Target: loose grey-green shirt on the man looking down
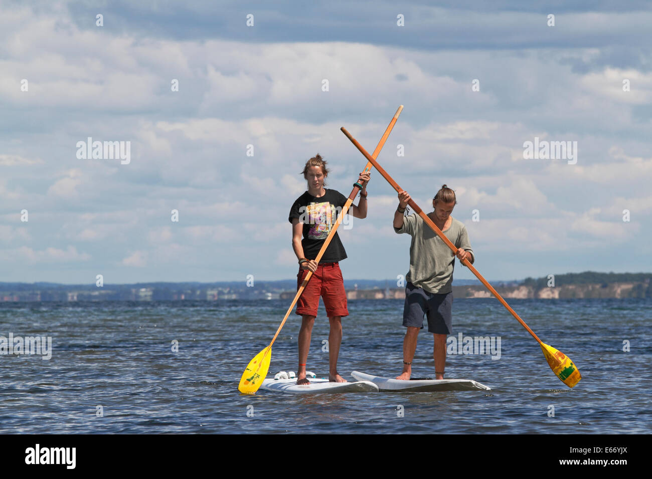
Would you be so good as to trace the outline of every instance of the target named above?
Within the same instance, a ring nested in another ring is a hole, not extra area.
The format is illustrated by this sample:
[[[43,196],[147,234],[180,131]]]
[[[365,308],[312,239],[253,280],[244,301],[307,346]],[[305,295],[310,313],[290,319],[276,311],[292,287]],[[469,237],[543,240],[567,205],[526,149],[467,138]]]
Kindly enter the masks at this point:
[[[396,233],[408,233],[412,237],[409,247],[409,272],[406,281],[421,287],[428,293],[445,294],[452,291],[452,271],[455,255],[451,248],[430,229],[421,216],[410,214],[403,218],[403,225],[394,228]],[[456,248],[462,248],[471,254],[471,263],[475,254],[471,249],[469,235],[462,222],[452,218],[449,229],[442,231]]]

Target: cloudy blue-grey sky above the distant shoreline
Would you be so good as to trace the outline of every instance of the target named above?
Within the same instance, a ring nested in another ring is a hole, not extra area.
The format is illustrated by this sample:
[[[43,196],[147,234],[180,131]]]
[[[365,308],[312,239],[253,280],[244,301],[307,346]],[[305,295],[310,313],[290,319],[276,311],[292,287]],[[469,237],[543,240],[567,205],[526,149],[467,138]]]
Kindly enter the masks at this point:
[[[426,211],[456,190],[486,278],[650,271],[649,3],[491,4],[0,1],[0,282],[293,278],[304,162],[348,196],[340,126],[371,152],[400,104],[378,160]],[[576,157],[524,158],[535,138]],[[398,200],[368,191],[344,278],[396,278]]]

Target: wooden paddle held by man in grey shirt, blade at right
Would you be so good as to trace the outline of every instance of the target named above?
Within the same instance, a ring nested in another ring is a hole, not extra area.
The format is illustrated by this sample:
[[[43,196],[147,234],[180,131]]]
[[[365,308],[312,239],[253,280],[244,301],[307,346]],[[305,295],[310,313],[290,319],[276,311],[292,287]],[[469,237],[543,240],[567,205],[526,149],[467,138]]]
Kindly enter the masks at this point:
[[[351,136],[351,134],[348,131],[346,131],[346,128],[344,128],[344,126],[342,126],[341,130],[342,130],[342,133],[344,133],[346,135],[346,137],[351,140],[351,143],[353,143],[353,145],[355,145],[355,147],[357,147],[357,149],[359,149],[359,151],[365,156],[365,158],[369,162],[371,162],[374,165],[374,167],[376,167],[376,169],[378,169],[378,173],[383,175],[383,178],[385,178],[387,180],[387,182],[389,182],[389,184],[391,184],[393,186],[394,190],[396,190],[397,193],[401,192],[402,188],[400,186],[398,186],[398,183],[396,183],[396,181],[394,181],[392,179],[392,177],[389,176],[387,171],[385,171],[383,169],[383,167],[381,167],[378,164],[378,162],[376,162],[376,158],[372,158],[372,156],[370,156],[369,153],[366,152],[366,150],[362,147],[362,145],[360,145],[360,143],[358,143],[356,141],[356,139],[353,138],[353,136]],[[428,226],[430,226],[430,228],[432,228],[432,231],[437,233],[437,236],[439,236],[439,238],[441,238],[443,240],[443,242],[445,242],[447,244],[447,246],[449,248],[451,248],[453,253],[457,252],[457,248],[455,248],[455,245],[452,244],[451,240],[449,240],[446,237],[446,235],[444,235],[441,232],[441,229],[439,229],[437,227],[437,225],[434,224],[432,222],[432,220],[430,220],[430,218],[428,218],[428,215],[426,213],[424,213],[421,210],[421,208],[419,208],[417,203],[415,203],[412,199],[410,199],[408,201],[408,205],[410,205],[410,207],[415,211],[415,213],[417,213],[419,216],[421,216],[421,218],[423,218],[424,222],[426,222],[426,224],[428,224]],[[487,282],[487,280],[482,278],[482,275],[478,272],[477,269],[475,269],[473,267],[473,265],[471,265],[471,263],[469,262],[468,259],[465,259],[463,264],[468,269],[470,269],[471,272],[473,272],[473,274],[475,274],[475,276],[477,276],[477,278],[482,282],[482,284],[484,284],[486,289],[491,291],[492,295],[494,295],[496,297],[496,299],[499,300],[503,304],[503,306],[505,306],[505,308],[507,308],[507,311],[512,313],[512,316],[514,316],[518,320],[518,322],[521,323],[521,325],[524,328],[526,328],[527,332],[529,332],[529,334],[531,334],[533,336],[533,338],[535,338],[535,340],[537,340],[539,342],[539,345],[541,345],[541,349],[543,351],[543,354],[544,354],[544,356],[546,356],[546,360],[548,361],[548,366],[550,366],[550,368],[552,369],[552,372],[554,372],[557,375],[557,377],[559,377],[559,379],[561,379],[561,381],[563,381],[563,383],[565,385],[569,386],[569,388],[572,388],[572,386],[576,385],[578,383],[578,381],[580,381],[580,379],[582,379],[582,376],[580,375],[580,371],[578,371],[576,366],[571,361],[571,358],[569,358],[569,356],[565,355],[561,351],[557,351],[557,349],[555,349],[554,347],[549,346],[546,343],[544,343],[543,341],[541,341],[539,339],[539,337],[536,334],[534,334],[534,332],[526,325],[525,321],[520,319],[518,314],[516,314],[516,312],[514,310],[512,310],[511,306],[509,306],[509,304],[507,304],[507,301],[505,301],[503,299],[503,297],[501,297],[501,295],[499,295],[497,293],[496,289],[494,289],[492,287],[492,285],[490,285]]]

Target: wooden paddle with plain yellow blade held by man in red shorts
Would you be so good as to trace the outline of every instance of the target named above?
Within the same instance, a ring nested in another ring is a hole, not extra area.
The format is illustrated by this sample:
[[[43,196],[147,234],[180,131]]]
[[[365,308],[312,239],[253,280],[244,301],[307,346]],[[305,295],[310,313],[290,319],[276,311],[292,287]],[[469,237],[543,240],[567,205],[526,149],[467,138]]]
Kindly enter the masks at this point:
[[[396,110],[396,113],[394,113],[394,117],[392,121],[389,123],[389,126],[387,126],[387,129],[383,134],[383,138],[380,139],[378,146],[374,150],[374,155],[373,155],[374,160],[376,159],[379,152],[383,148],[383,145],[385,145],[385,141],[387,141],[387,137],[389,137],[392,128],[394,128],[394,124],[396,123],[396,120],[398,120],[398,115],[401,114],[401,111],[403,111],[403,105],[399,106],[398,109]],[[367,162],[366,166],[364,166],[363,171],[371,171],[371,168],[372,168],[372,163]],[[324,240],[324,243],[323,245],[321,245],[321,249],[319,250],[317,257],[314,259],[316,263],[319,263],[319,260],[326,252],[326,248],[328,248],[328,245],[331,243],[331,240],[333,239],[335,232],[337,231],[338,227],[342,223],[342,219],[344,218],[344,215],[346,214],[346,212],[348,212],[349,207],[351,207],[351,203],[353,203],[353,200],[357,196],[358,192],[362,190],[362,188],[363,188],[362,184],[355,183],[353,185],[353,190],[351,190],[351,194],[349,195],[349,198],[346,200],[346,203],[344,203],[344,207],[342,207],[342,211],[338,215],[337,220],[335,221],[333,227],[331,228],[331,232],[329,233],[328,237]],[[276,330],[276,334],[274,334],[274,338],[272,338],[271,343],[269,343],[269,346],[267,346],[265,349],[260,351],[260,353],[258,353],[247,365],[240,379],[240,384],[238,385],[238,390],[240,392],[243,392],[244,394],[254,394],[265,380],[265,377],[267,376],[267,371],[269,371],[269,361],[271,360],[271,356],[272,356],[271,354],[272,345],[274,344],[274,341],[276,341],[276,337],[278,336],[278,333],[280,333],[281,328],[283,327],[283,325],[288,319],[289,313],[291,313],[292,308],[294,308],[294,305],[297,304],[297,300],[299,300],[301,293],[303,293],[303,290],[305,289],[306,284],[308,284],[308,280],[310,280],[311,277],[312,277],[312,271],[308,271],[308,274],[306,274],[306,277],[301,283],[301,286],[299,287],[297,294],[292,300],[292,304],[290,304],[288,308],[288,312],[283,318],[281,325]]]

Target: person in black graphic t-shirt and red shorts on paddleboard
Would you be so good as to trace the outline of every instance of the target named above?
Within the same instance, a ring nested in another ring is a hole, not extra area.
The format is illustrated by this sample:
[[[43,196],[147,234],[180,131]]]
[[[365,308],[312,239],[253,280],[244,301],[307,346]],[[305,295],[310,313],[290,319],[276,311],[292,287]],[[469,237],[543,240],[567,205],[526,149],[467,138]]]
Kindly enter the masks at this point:
[[[308,281],[303,294],[297,301],[296,313],[301,315],[301,330],[299,330],[299,368],[297,384],[308,384],[306,379],[306,362],[310,349],[312,326],[317,317],[319,297],[324,302],[326,315],[331,323],[329,333],[329,379],[337,383],[346,380],[337,372],[337,356],[342,343],[342,316],[348,316],[344,280],[338,265],[346,258],[346,251],[337,233],[334,234],[325,253],[314,261],[321,246],[329,236],[331,227],[337,220],[337,215],[346,203],[346,196],[336,190],[324,188],[324,180],[328,176],[326,162],[319,156],[314,156],[306,162],[303,177],[308,181],[308,191],[297,198],[289,211],[288,220],[292,224],[292,248],[299,259],[299,274],[297,274],[297,290],[303,283],[308,271],[312,277]],[[360,173],[359,184],[363,184],[358,205],[351,205],[349,214],[355,218],[366,218],[366,182],[369,173]],[[303,235],[303,239],[301,239]]]

